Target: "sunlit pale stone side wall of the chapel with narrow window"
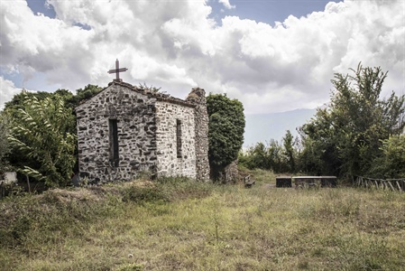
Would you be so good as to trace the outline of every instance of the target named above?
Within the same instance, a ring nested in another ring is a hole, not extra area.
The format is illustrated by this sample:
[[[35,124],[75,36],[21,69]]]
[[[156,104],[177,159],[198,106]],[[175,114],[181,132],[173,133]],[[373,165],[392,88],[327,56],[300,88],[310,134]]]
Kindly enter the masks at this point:
[[[196,178],[194,107],[168,101],[155,107],[158,176]]]

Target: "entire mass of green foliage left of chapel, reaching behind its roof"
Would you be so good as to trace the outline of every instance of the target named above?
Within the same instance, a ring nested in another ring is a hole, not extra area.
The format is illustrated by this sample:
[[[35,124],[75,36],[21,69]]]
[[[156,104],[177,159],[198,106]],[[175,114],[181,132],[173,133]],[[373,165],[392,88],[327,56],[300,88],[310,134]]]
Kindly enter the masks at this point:
[[[2,164],[9,162],[21,173],[47,182],[48,185],[66,184],[72,173],[70,165],[73,163],[78,166],[76,117],[73,109],[83,99],[91,98],[101,90],[89,84],[84,89],[77,89],[76,95],[68,89],[57,89],[53,93],[22,91],[14,95],[5,104],[3,112],[3,116],[13,121],[15,128],[10,137],[13,147],[10,148],[7,161]],[[5,137],[2,134],[4,124],[5,119],[2,118],[0,140]],[[54,143],[57,145],[52,146]],[[0,146],[0,158],[5,156],[1,154],[6,148],[6,144]],[[53,175],[45,177],[49,173]]]

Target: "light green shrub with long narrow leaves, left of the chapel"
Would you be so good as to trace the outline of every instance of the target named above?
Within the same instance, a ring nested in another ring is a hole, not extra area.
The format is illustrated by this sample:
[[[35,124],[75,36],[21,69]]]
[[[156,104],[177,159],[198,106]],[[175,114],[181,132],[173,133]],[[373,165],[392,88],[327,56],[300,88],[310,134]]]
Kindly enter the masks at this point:
[[[17,170],[49,186],[63,186],[69,182],[76,162],[75,118],[71,108],[55,95],[38,99],[21,94],[19,108],[8,109],[11,131],[8,141],[12,146]]]

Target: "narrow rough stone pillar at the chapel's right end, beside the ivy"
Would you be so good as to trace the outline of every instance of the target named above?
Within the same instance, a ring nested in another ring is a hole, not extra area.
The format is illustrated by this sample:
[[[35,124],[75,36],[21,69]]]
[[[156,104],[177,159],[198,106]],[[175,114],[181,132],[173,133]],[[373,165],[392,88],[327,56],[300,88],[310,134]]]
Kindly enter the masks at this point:
[[[194,88],[189,93],[187,101],[196,105],[196,163],[197,175],[199,181],[209,180],[209,161],[208,161],[208,112],[206,91],[204,89]]]

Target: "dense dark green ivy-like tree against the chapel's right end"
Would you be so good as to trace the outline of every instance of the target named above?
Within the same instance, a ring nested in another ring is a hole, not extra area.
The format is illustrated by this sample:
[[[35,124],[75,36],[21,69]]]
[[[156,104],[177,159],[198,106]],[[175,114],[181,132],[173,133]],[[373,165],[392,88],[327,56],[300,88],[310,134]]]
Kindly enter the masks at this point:
[[[208,158],[211,175],[217,179],[225,167],[237,159],[244,144],[244,106],[226,95],[209,94],[207,111]]]

